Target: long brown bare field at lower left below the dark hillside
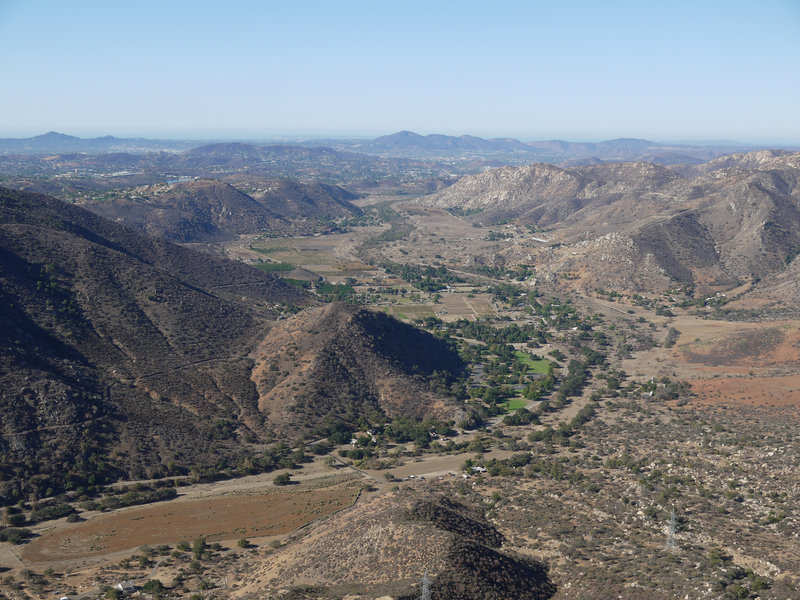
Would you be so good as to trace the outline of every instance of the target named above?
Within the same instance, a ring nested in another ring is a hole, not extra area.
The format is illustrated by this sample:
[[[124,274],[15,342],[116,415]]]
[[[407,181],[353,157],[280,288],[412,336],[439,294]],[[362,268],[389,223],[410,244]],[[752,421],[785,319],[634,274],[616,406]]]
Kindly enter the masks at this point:
[[[348,482],[320,489],[173,500],[123,510],[44,532],[25,546],[21,558],[40,563],[174,544],[198,536],[218,541],[280,535],[352,505],[359,489],[360,484]]]

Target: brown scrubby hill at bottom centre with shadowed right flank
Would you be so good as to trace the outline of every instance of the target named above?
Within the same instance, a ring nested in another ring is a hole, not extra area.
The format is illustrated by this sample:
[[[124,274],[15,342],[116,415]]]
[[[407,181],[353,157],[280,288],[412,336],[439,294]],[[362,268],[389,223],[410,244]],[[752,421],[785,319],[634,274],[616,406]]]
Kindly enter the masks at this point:
[[[236,598],[540,600],[555,586],[540,562],[502,550],[480,509],[443,496],[383,495],[260,553]]]

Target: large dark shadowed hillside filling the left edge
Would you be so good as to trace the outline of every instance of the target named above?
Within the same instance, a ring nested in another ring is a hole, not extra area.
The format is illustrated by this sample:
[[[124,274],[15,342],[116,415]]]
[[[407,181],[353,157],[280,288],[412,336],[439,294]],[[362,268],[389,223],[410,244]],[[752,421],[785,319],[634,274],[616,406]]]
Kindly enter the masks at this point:
[[[4,499],[213,464],[217,442],[231,452],[219,419],[263,433],[247,354],[282,305],[309,303],[246,265],[7,190],[0,282]]]

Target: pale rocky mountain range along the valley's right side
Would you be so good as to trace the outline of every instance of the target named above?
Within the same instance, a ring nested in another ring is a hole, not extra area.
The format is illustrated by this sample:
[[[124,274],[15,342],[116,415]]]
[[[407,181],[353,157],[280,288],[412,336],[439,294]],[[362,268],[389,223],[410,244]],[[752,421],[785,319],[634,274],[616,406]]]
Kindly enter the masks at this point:
[[[421,203],[473,213],[478,224],[547,229],[570,252],[540,254],[542,271],[569,271],[587,286],[724,289],[784,268],[800,248],[800,154],[760,151],[691,170],[698,174],[648,163],[505,167]],[[524,246],[505,256],[535,260]]]

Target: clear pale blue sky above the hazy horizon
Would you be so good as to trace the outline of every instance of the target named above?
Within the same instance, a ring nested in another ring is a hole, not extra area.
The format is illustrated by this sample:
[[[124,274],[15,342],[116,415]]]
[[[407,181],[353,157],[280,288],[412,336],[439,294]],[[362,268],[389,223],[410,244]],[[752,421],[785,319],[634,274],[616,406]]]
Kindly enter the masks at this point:
[[[0,0],[0,137],[800,144],[800,0]]]

